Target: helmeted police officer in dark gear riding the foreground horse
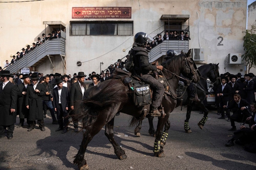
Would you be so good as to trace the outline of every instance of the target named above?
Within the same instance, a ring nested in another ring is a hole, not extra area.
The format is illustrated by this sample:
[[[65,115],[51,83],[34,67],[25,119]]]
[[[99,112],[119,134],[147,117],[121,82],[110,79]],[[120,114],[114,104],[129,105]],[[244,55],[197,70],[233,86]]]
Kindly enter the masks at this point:
[[[158,107],[161,105],[164,86],[149,73],[156,71],[157,69],[163,70],[163,66],[158,66],[158,63],[156,62],[152,64],[149,62],[148,52],[144,48],[146,47],[147,40],[148,36],[144,32],[139,32],[134,36],[134,68],[132,74],[138,76],[142,82],[149,84],[153,90],[152,104],[149,114],[151,114],[151,116],[161,116],[163,113],[158,110]]]

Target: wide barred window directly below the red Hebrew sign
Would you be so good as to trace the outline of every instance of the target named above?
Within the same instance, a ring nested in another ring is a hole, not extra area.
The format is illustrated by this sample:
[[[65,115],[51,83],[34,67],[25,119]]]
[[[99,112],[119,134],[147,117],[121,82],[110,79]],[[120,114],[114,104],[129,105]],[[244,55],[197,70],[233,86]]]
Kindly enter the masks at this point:
[[[70,21],[70,35],[133,35],[133,21]]]

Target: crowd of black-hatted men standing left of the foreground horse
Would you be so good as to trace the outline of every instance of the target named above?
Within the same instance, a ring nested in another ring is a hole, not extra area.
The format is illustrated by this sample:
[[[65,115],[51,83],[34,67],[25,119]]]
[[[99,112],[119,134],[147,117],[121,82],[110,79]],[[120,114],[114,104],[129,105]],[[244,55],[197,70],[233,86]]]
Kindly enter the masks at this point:
[[[108,79],[92,72],[88,77],[92,80],[89,85],[96,86],[100,82]],[[52,124],[58,124],[55,131],[68,131],[69,115],[79,111],[80,101],[84,98],[86,85],[84,84],[84,72],[71,75],[61,75],[59,73],[43,75],[42,73],[30,74],[10,74],[8,70],[0,72],[0,138],[5,137],[7,128],[7,138],[13,138],[13,130],[16,123],[16,115],[19,115],[17,128],[28,128],[32,131],[37,124],[41,131],[45,131],[44,118],[49,109]],[[88,79],[87,79],[88,80]],[[25,119],[28,126],[24,126]],[[73,119],[74,132],[78,132],[78,119]]]

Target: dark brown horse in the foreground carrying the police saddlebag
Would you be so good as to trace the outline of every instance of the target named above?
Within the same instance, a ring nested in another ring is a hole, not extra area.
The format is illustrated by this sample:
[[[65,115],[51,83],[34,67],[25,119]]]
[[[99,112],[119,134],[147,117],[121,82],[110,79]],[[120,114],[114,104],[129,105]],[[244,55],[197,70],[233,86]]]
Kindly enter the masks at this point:
[[[175,94],[180,79],[180,73],[190,79],[186,80],[188,83],[199,81],[199,73],[196,71],[197,69],[193,59],[189,56],[190,52],[191,50],[189,50],[187,54],[182,52],[165,65],[162,72],[168,81],[169,93]],[[114,147],[115,154],[120,160],[126,159],[127,156],[124,150],[121,149],[120,145],[114,139],[114,117],[118,111],[140,117],[144,112],[143,107],[134,106],[132,99],[127,93],[127,86],[123,85],[121,80],[109,79],[97,86],[90,87],[85,93],[86,99],[84,99],[81,104],[82,111],[77,116],[79,119],[87,119],[86,122],[83,122],[87,130],[84,132],[80,149],[77,155],[74,156],[74,164],[77,164],[79,169],[89,168],[84,159],[86,148],[88,143],[100,132],[104,125],[105,135]],[[165,95],[162,99],[162,105],[166,116],[164,118],[158,118],[154,143],[154,155],[157,157],[165,156],[163,147],[168,136],[169,127],[165,127],[165,129],[168,129],[163,132],[163,126],[167,122],[170,112],[172,112],[176,106],[176,98]],[[150,106],[148,106],[147,111],[149,111],[149,107]],[[137,121],[132,123],[137,123]]]

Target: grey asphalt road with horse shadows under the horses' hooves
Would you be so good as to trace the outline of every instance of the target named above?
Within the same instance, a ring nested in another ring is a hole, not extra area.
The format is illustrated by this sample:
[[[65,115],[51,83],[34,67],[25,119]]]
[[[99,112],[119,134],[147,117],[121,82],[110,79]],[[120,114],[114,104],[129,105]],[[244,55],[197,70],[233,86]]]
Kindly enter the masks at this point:
[[[230,122],[217,119],[215,110],[208,114],[204,129],[197,123],[202,114],[192,111],[189,125],[191,134],[184,131],[186,110],[175,109],[170,115],[171,128],[164,148],[165,157],[154,157],[154,138],[149,136],[148,121],[144,120],[141,136],[136,137],[134,127],[129,128],[130,116],[121,113],[115,117],[115,139],[122,146],[127,159],[119,160],[104,135],[104,128],[93,138],[85,158],[90,169],[256,169],[256,154],[236,145],[225,147],[233,133]],[[55,132],[58,125],[51,124],[49,113],[45,118],[46,131],[15,128],[13,139],[0,139],[0,169],[78,169],[72,162],[82,141],[82,131],[66,134]],[[17,117],[17,123],[19,119]],[[157,118],[154,119],[156,127]],[[237,127],[240,123],[236,123]]]

